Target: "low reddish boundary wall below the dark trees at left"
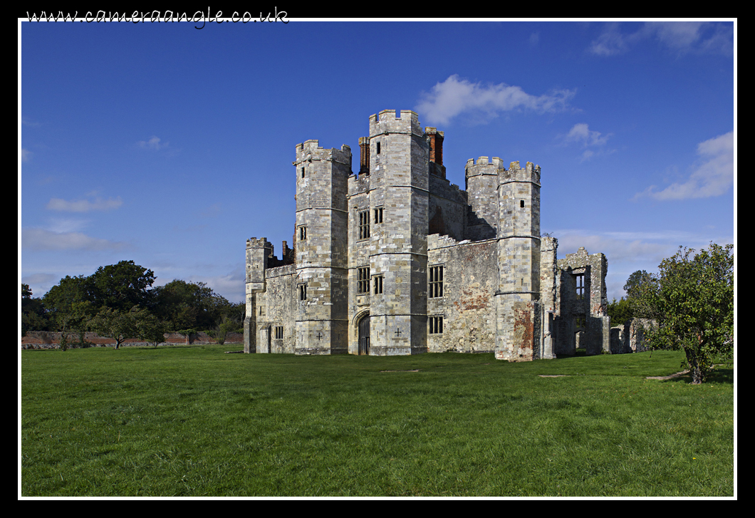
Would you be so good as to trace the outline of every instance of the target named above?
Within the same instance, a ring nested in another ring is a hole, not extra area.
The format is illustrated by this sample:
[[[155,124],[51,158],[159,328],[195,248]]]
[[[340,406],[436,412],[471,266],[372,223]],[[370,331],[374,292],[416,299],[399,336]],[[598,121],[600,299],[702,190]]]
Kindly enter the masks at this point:
[[[212,338],[207,333],[193,333],[190,336],[180,335],[179,333],[165,333],[165,341],[161,342],[163,345],[177,345],[177,344],[196,344],[196,345],[208,345],[217,344],[217,339]],[[115,347],[116,341],[112,338],[103,338],[97,333],[86,333],[84,340],[88,344],[86,347]],[[75,349],[79,347],[79,335],[75,333],[69,333],[68,335],[69,347]],[[244,335],[241,333],[228,333],[226,335],[225,343],[227,344],[241,344],[244,341]],[[121,347],[139,346],[147,347],[152,346],[145,341],[140,341],[138,338],[129,338],[127,341],[121,344]],[[21,338],[21,349],[59,349],[60,348],[60,333],[51,331],[29,331],[25,337]]]

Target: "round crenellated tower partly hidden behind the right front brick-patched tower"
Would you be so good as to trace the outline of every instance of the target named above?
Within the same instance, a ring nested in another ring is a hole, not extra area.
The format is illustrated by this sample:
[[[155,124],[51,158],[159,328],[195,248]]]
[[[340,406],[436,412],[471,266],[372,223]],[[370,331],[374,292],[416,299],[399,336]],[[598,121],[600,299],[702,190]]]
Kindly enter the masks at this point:
[[[478,241],[498,235],[498,171],[501,169],[504,164],[497,156],[489,162],[487,156],[480,156],[476,164],[473,159],[467,160],[464,168],[470,203],[467,239]]]

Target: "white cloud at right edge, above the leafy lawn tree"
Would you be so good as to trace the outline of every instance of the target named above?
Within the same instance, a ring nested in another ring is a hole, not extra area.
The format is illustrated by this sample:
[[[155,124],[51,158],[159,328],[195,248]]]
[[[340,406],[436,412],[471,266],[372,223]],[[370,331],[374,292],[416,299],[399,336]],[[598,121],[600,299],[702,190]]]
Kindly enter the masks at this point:
[[[698,155],[703,158],[688,180],[672,183],[661,191],[652,185],[633,199],[694,199],[726,193],[734,183],[734,131],[699,143]]]

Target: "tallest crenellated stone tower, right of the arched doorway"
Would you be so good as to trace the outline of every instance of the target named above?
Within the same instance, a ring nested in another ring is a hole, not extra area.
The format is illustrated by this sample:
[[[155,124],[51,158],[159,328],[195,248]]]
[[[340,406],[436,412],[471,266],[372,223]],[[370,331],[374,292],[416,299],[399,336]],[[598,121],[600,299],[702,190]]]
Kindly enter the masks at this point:
[[[383,110],[371,116],[369,160],[368,264],[350,269],[359,296],[360,270],[369,267],[369,354],[421,353],[427,350],[429,142],[418,114]],[[353,218],[355,225],[364,221]],[[356,245],[366,238],[353,236]]]

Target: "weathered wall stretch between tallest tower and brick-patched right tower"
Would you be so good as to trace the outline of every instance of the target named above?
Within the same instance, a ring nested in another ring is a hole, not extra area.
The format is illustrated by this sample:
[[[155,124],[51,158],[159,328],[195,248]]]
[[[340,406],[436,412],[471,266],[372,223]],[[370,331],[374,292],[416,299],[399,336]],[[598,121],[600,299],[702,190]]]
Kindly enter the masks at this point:
[[[427,299],[427,351],[492,353],[495,350],[495,291],[498,242],[456,242],[427,237],[428,267],[443,268],[443,296]],[[442,326],[433,327],[433,318]],[[433,332],[435,331],[435,332]],[[439,331],[439,332],[438,332]]]

